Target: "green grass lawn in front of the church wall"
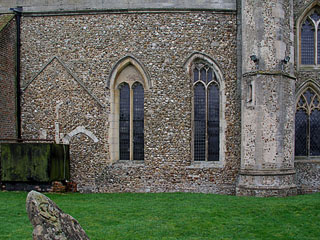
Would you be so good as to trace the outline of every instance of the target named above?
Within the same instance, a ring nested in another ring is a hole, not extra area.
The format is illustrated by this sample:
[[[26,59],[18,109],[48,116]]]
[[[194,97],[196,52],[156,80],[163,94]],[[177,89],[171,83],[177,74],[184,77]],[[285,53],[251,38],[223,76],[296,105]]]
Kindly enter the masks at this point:
[[[90,239],[320,239],[320,194],[46,194]],[[0,192],[0,239],[32,239],[24,192]]]

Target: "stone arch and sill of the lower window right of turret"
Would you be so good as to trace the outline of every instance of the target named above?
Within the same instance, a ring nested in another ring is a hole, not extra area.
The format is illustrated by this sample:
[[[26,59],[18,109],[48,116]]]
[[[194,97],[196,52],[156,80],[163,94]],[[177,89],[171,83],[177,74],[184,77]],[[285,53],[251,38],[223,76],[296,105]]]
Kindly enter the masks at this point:
[[[296,91],[296,101],[295,101],[295,108],[297,106],[297,103],[300,99],[301,94],[304,93],[304,91],[307,88],[311,88],[315,93],[317,93],[320,96],[320,85],[313,80],[307,80]],[[320,156],[294,156],[294,161],[297,163],[320,163]]]

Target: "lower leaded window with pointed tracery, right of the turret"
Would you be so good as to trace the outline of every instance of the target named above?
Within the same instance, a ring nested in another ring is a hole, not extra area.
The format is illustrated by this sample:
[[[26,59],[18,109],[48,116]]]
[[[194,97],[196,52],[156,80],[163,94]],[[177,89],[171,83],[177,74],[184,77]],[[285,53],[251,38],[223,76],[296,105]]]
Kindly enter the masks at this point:
[[[299,97],[295,117],[295,155],[320,156],[319,96],[307,88]]]

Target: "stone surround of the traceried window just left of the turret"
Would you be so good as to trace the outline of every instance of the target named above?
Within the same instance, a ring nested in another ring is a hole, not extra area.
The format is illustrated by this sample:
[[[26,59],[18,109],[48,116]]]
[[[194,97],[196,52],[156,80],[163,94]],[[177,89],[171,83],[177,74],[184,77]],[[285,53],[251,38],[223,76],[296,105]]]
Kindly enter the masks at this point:
[[[192,65],[196,60],[202,60],[206,61],[209,63],[209,65],[212,67],[212,70],[214,71],[216,77],[217,77],[217,84],[219,86],[219,94],[220,94],[220,112],[219,112],[219,122],[220,122],[220,129],[219,129],[219,141],[220,141],[220,146],[219,146],[219,161],[213,161],[213,162],[196,162],[193,160],[193,146],[194,146],[194,126],[193,126],[193,114],[194,114],[194,107],[193,107],[193,81],[192,81]],[[225,80],[223,77],[222,70],[218,63],[208,56],[207,54],[201,53],[201,52],[194,52],[192,53],[188,59],[184,63],[184,68],[186,69],[186,72],[188,74],[188,77],[190,78],[190,84],[192,86],[192,113],[191,113],[191,122],[192,122],[192,141],[191,141],[191,159],[192,159],[192,165],[212,165],[213,167],[224,167],[225,165],[225,150],[226,150],[226,119],[225,119],[225,109],[226,109],[226,94],[225,94]]]

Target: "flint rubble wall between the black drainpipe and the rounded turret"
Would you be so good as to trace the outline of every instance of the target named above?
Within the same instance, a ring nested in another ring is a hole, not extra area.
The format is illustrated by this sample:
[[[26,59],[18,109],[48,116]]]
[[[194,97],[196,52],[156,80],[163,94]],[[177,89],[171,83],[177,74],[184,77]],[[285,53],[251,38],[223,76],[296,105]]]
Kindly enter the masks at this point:
[[[184,68],[210,56],[225,81],[224,165],[191,155],[192,83]],[[107,80],[125,56],[141,62],[145,160],[112,162]],[[22,19],[22,135],[70,142],[71,180],[82,192],[235,193],[240,166],[235,12],[101,13]]]

